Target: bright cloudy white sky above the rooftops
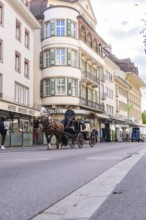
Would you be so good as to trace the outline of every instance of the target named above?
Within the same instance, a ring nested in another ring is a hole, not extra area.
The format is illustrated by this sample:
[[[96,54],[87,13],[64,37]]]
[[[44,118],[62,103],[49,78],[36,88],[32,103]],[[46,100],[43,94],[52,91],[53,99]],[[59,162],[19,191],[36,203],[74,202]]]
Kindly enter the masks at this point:
[[[130,58],[146,83],[146,0],[90,0],[97,19],[96,31],[111,44],[112,53]],[[142,111],[146,110],[146,89],[142,89]]]

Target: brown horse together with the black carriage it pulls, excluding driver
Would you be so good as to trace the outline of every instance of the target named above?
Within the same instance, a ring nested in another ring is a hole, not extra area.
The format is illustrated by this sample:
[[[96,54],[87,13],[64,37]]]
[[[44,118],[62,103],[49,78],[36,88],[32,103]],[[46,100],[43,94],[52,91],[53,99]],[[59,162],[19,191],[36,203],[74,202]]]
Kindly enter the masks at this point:
[[[48,149],[51,148],[50,142],[53,136],[56,137],[57,148],[69,145],[74,148],[77,144],[82,148],[85,143],[89,143],[93,147],[97,142],[97,132],[95,129],[86,131],[85,125],[81,121],[73,121],[70,127],[66,128],[59,120],[49,119],[48,116],[41,116],[39,124],[42,125],[42,130],[46,136]]]

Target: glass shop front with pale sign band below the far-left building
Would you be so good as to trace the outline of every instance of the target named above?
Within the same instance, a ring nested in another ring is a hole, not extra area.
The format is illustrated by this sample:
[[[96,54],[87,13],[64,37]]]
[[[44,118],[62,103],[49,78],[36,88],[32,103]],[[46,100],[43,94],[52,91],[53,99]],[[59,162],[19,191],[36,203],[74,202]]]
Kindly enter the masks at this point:
[[[5,146],[32,146],[33,117],[38,115],[39,112],[32,108],[2,102],[0,118],[5,118],[10,123]]]

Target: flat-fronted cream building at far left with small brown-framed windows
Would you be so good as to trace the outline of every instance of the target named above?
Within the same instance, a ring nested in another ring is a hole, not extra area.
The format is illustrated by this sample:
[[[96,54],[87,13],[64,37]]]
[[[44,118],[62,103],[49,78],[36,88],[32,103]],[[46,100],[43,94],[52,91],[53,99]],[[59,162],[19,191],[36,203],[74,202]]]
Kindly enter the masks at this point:
[[[0,117],[30,129],[34,110],[34,29],[29,1],[0,0]]]

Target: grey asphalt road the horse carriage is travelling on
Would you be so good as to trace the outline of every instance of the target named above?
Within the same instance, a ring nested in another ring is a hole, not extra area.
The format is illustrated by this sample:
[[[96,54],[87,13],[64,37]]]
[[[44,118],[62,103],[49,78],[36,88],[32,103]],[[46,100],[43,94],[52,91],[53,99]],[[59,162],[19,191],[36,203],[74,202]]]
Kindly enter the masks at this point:
[[[145,143],[0,151],[0,220],[28,220],[99,176]]]

